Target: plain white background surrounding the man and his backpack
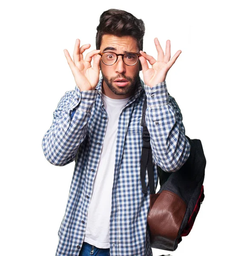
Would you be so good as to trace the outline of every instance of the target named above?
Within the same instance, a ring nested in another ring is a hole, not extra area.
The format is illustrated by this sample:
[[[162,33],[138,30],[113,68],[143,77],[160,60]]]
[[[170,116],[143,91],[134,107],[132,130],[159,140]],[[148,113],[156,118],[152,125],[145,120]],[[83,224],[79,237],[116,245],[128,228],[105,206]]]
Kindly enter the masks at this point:
[[[175,252],[153,255],[240,255],[239,11],[237,1],[211,0],[1,3],[0,255],[55,255],[74,162],[51,165],[41,142],[61,96],[75,88],[63,50],[72,56],[77,38],[95,49],[99,17],[110,8],[142,18],[148,54],[156,57],[155,37],[163,49],[171,40],[172,56],[182,50],[167,87],[186,135],[202,141],[207,159],[205,200],[191,233]]]

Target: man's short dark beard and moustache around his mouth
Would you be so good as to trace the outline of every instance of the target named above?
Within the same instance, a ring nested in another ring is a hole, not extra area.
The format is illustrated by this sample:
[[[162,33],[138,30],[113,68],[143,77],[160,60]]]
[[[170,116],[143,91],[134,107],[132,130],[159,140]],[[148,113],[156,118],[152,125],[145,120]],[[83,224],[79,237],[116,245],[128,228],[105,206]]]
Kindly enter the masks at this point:
[[[130,77],[130,76],[115,76],[113,78],[109,78],[108,76],[104,76],[104,74],[102,73],[102,77],[104,79],[104,82],[107,84],[107,86],[109,87],[109,89],[115,93],[116,95],[125,95],[128,93],[133,93],[135,91],[136,88],[136,83],[139,80],[139,74],[137,74],[134,77]],[[127,79],[128,81],[130,81],[130,86],[125,88],[125,87],[115,87],[113,85],[113,81],[115,81],[116,79],[119,78],[124,78]]]

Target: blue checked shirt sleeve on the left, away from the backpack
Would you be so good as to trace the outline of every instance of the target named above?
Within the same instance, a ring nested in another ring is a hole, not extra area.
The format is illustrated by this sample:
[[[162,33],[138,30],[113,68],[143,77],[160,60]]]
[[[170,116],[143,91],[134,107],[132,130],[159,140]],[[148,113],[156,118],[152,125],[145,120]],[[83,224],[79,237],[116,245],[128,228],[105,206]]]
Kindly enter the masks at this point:
[[[53,122],[43,137],[42,148],[46,159],[56,165],[71,163],[87,133],[87,123],[97,90],[67,91],[53,113]]]

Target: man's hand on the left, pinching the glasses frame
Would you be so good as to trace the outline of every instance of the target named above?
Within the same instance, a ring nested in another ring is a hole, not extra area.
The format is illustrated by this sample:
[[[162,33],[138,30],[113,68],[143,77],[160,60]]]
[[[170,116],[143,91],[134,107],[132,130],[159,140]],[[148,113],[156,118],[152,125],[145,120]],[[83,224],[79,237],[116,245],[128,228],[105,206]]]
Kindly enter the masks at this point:
[[[80,89],[84,90],[94,90],[98,84],[99,80],[99,62],[101,59],[100,55],[97,55],[100,50],[93,50],[87,53],[85,60],[83,59],[83,53],[86,49],[90,48],[90,44],[84,44],[80,47],[80,40],[77,39],[73,52],[73,61],[69,55],[67,49],[64,49],[65,57],[67,58],[67,63],[69,64],[72,74],[74,76],[75,82]],[[91,61],[93,58],[93,67],[91,66]]]

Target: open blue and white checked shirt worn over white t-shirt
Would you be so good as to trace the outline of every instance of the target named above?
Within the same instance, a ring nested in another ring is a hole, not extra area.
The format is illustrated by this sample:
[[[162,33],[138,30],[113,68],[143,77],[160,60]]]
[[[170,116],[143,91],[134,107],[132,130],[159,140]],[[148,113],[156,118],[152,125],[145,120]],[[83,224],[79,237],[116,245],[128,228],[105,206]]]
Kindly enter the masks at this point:
[[[58,230],[56,256],[78,256],[84,241],[87,211],[98,169],[107,112],[102,101],[101,78],[95,90],[65,93],[53,113],[53,123],[43,137],[46,159],[64,166],[75,160],[66,212]],[[142,193],[140,158],[142,152],[142,106],[147,97],[146,123],[153,152],[155,189],[159,165],[166,172],[178,170],[188,159],[190,145],[185,137],[182,114],[166,83],[150,88],[139,79],[135,94],[119,117],[116,161],[110,215],[111,256],[152,256],[147,228],[150,203]]]

